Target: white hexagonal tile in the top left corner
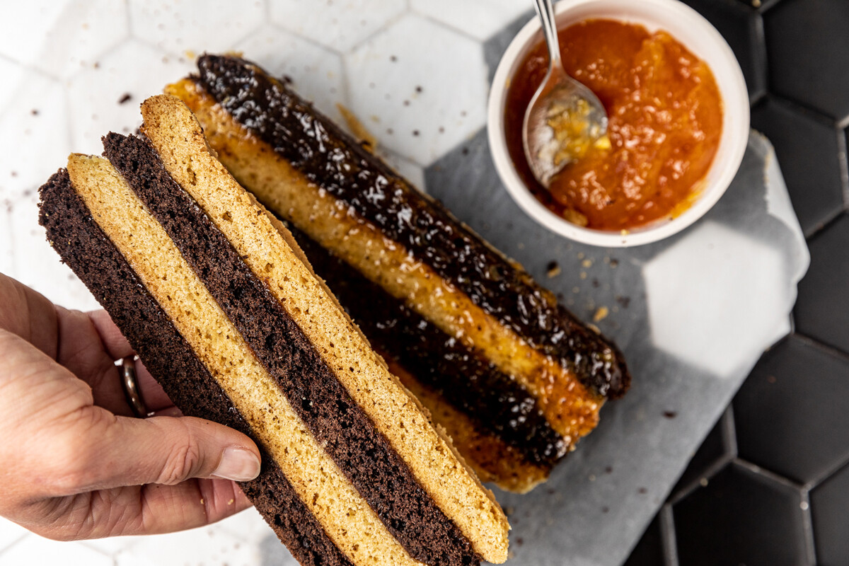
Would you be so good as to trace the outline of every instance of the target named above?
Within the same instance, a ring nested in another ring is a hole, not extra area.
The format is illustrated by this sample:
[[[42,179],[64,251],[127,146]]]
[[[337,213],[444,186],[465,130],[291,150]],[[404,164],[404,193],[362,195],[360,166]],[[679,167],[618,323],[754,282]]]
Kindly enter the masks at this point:
[[[28,0],[4,19],[0,53],[57,77],[93,64],[128,33],[127,7],[115,0]]]

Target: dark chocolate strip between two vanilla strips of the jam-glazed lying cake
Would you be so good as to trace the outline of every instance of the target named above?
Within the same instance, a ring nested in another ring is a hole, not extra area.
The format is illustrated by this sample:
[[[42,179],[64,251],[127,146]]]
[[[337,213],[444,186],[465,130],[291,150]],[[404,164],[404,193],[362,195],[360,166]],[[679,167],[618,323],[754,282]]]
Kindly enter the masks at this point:
[[[356,269],[287,223],[312,267],[366,337],[474,421],[530,462],[552,466],[568,445],[548,425],[532,395],[492,362],[436,328]]]

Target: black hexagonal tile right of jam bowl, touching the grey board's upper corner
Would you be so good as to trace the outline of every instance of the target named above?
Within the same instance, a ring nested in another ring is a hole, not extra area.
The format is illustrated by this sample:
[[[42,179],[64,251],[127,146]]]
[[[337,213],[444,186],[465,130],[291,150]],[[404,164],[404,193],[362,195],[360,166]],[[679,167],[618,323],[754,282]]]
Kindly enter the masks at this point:
[[[751,125],[775,146],[796,216],[811,235],[843,207],[843,157],[836,126],[772,97],[752,109]]]

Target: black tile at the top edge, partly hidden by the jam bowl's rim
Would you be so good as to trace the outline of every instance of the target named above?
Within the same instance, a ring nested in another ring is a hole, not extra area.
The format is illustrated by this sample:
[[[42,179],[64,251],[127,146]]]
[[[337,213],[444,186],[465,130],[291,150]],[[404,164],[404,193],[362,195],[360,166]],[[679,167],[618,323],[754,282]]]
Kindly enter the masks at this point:
[[[761,15],[735,0],[683,0],[717,28],[734,51],[745,76],[749,98],[767,90],[767,53]]]

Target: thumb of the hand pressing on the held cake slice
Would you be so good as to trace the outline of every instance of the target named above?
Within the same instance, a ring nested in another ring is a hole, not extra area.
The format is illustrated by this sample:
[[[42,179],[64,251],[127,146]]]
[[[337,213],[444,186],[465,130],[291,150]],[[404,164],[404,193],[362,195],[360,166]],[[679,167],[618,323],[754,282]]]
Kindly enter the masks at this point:
[[[104,412],[93,407],[93,412]],[[177,485],[191,478],[256,478],[256,445],[234,429],[194,417],[147,419],[100,415],[80,431],[81,441],[54,465],[64,481],[53,496],[125,485]]]

